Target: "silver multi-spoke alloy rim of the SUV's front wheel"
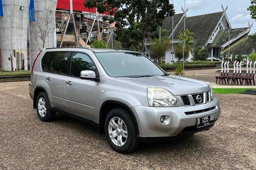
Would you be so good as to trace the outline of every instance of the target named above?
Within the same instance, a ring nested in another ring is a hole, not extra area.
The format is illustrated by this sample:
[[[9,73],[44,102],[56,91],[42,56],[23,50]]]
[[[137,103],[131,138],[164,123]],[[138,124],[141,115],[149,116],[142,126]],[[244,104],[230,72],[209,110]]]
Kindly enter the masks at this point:
[[[127,127],[120,117],[112,117],[109,122],[109,136],[112,142],[122,147],[127,141]]]

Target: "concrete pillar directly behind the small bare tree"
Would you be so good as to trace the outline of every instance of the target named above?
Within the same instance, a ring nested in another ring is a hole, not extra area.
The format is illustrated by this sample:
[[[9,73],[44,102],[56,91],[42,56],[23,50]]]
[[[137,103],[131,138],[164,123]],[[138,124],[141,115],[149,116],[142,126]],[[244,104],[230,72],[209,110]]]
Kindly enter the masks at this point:
[[[42,40],[39,37],[40,33],[38,33],[38,22],[47,22],[46,14],[52,16],[52,21],[49,25],[51,30],[46,38],[45,48],[56,47],[56,23],[55,23],[55,11],[57,6],[57,0],[34,0],[35,7],[35,22],[30,21],[30,36],[31,36],[31,55],[30,55],[30,63],[32,65],[35,57],[39,53],[39,50],[42,50]],[[35,33],[37,32],[37,33]]]

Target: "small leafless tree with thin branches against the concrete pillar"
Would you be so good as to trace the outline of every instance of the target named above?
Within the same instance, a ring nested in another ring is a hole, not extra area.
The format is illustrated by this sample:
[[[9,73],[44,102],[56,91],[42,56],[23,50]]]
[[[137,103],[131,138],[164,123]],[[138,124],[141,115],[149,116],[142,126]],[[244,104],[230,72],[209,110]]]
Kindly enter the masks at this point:
[[[54,15],[51,11],[44,11],[36,13],[33,22],[33,33],[37,42],[38,50],[41,51],[45,48],[46,38],[50,32],[54,31]],[[41,43],[37,38],[40,38]]]

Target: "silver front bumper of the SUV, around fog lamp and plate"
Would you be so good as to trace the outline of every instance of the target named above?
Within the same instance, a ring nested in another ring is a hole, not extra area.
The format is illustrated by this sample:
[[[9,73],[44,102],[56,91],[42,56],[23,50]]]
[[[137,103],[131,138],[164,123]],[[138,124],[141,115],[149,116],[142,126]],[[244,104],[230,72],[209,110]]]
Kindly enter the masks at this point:
[[[209,110],[211,108],[211,110]],[[196,133],[211,128],[209,125],[197,129],[197,118],[215,114],[215,120],[220,117],[219,100],[195,106],[183,107],[148,107],[135,106],[132,110],[136,116],[139,137],[172,137],[185,133]],[[206,110],[206,111],[203,111]],[[195,114],[185,112],[201,111]],[[160,122],[161,116],[169,116],[170,122],[166,125]]]

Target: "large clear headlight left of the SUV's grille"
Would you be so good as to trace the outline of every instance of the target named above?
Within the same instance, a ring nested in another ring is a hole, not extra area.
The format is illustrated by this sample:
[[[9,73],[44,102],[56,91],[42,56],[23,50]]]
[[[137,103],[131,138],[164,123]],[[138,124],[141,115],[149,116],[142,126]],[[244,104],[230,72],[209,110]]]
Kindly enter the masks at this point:
[[[177,107],[179,100],[168,90],[159,87],[147,88],[147,101],[153,107]]]

